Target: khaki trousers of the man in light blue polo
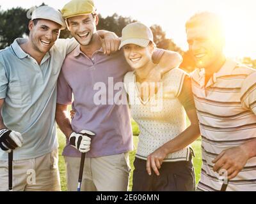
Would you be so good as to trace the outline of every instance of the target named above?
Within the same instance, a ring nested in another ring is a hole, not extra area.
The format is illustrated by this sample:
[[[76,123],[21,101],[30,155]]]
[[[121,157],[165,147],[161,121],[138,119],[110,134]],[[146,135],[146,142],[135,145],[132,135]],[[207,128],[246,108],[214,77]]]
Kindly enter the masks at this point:
[[[0,161],[0,191],[8,191],[8,161]],[[58,149],[35,159],[13,161],[13,191],[61,191]]]

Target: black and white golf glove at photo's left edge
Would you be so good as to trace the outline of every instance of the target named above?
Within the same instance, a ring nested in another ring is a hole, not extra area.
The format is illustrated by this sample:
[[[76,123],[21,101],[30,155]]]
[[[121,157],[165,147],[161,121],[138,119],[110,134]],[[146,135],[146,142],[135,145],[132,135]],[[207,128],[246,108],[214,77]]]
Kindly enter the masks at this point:
[[[20,133],[9,129],[0,129],[0,148],[10,153],[17,147],[21,147],[23,138]]]

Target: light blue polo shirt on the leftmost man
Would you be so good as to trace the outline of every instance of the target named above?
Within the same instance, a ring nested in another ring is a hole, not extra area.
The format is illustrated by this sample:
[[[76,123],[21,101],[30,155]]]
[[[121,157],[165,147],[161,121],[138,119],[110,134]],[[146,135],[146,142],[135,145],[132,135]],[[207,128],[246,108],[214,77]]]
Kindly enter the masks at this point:
[[[26,54],[18,38],[0,51],[0,99],[4,99],[1,114],[8,129],[24,138],[13,159],[43,156],[58,147],[56,138],[56,82],[66,55],[74,50],[76,40],[57,40],[45,54],[40,65]],[[0,161],[8,154],[0,149]]]

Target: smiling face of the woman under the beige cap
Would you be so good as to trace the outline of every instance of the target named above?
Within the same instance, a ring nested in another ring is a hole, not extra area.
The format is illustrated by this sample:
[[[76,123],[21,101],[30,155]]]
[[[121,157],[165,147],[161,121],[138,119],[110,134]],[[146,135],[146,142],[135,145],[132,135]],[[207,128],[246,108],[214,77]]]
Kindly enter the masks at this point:
[[[140,47],[135,44],[124,45],[124,56],[132,69],[140,69],[148,64],[152,59],[154,45],[149,44],[147,47]]]

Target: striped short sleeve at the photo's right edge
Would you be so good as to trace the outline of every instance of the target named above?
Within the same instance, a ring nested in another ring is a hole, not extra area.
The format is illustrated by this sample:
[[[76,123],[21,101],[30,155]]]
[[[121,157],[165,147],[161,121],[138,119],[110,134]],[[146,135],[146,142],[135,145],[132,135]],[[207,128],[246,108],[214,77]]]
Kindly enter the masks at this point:
[[[256,71],[245,78],[241,87],[241,105],[256,114]]]

